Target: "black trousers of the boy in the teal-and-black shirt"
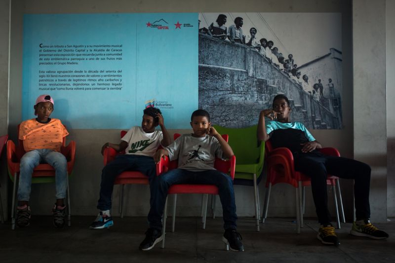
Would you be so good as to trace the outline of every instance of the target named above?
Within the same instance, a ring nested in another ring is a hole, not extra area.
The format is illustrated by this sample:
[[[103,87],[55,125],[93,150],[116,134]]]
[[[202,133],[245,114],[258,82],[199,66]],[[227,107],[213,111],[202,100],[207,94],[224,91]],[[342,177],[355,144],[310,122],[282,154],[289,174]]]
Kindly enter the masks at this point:
[[[294,153],[295,170],[311,178],[318,222],[331,222],[328,211],[327,174],[354,179],[356,219],[370,218],[369,188],[370,166],[354,159],[323,155],[319,152]]]

